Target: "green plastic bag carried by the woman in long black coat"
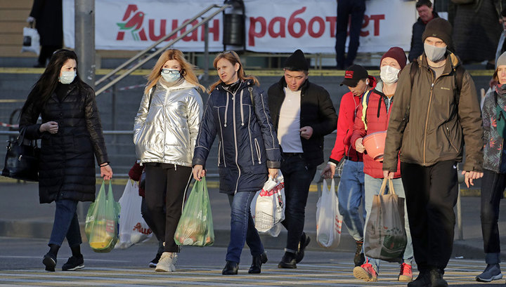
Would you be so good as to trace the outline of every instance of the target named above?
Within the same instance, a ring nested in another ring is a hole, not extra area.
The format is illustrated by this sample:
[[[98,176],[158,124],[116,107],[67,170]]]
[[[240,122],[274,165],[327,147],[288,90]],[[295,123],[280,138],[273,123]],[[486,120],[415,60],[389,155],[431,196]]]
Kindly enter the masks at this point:
[[[105,195],[105,180],[102,182],[95,202],[91,203],[86,215],[85,232],[91,249],[95,252],[109,252],[118,240],[118,217],[121,206],[114,200],[109,181]]]

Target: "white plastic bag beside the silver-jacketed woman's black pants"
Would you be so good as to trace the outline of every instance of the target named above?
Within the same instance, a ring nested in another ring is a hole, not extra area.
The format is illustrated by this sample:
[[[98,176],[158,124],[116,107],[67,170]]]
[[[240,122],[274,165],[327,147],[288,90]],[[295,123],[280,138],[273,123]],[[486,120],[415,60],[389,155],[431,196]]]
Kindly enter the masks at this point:
[[[115,248],[129,248],[136,243],[148,241],[153,232],[141,214],[142,197],[138,195],[138,184],[134,180],[126,182],[123,195],[119,199],[119,240]]]

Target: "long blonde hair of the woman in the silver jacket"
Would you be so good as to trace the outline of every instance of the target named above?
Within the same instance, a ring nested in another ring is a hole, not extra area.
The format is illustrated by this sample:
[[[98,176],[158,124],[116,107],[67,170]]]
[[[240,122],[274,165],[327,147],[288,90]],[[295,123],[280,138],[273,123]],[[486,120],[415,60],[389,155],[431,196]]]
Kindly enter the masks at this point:
[[[178,61],[181,65],[181,75],[183,78],[191,84],[194,84],[195,86],[201,88],[202,91],[205,91],[204,86],[199,84],[197,76],[195,76],[195,66],[191,65],[184,58],[183,52],[176,49],[169,49],[160,55],[160,58],[158,58],[157,63],[155,64],[155,67],[153,67],[150,74],[148,75],[148,84],[146,84],[144,88],[144,93],[148,93],[150,88],[153,88],[153,86],[157,84],[158,79],[160,79],[160,76],[162,76],[162,74],[160,74],[160,72],[162,72],[162,67],[168,60]]]

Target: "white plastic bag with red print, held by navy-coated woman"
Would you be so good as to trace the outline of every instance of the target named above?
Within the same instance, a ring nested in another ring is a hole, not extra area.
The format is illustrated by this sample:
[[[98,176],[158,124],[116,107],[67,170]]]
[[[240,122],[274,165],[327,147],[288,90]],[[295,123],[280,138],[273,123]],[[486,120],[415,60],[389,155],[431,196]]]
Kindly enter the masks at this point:
[[[259,232],[269,232],[278,222],[285,220],[285,180],[279,173],[275,179],[268,178],[257,192],[254,206],[254,222]],[[278,227],[279,228],[279,227]],[[271,233],[271,232],[269,232]],[[277,236],[277,235],[276,235]]]

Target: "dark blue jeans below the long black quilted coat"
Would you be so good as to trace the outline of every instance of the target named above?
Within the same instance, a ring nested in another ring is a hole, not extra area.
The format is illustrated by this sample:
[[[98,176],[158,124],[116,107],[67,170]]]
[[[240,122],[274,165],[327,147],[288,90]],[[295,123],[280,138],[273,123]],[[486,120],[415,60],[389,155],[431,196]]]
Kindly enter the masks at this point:
[[[77,202],[70,199],[58,199],[56,202],[53,231],[49,244],[61,246],[63,239],[67,237],[69,246],[77,246],[82,243],[79,220],[77,220]]]

